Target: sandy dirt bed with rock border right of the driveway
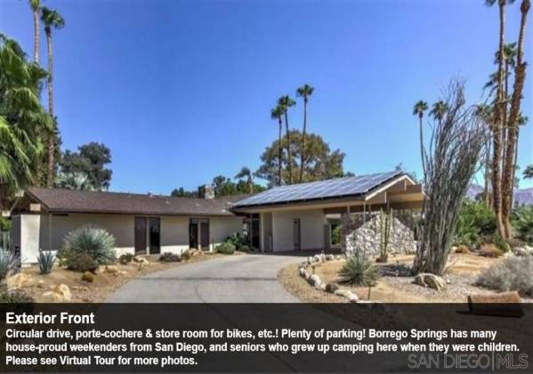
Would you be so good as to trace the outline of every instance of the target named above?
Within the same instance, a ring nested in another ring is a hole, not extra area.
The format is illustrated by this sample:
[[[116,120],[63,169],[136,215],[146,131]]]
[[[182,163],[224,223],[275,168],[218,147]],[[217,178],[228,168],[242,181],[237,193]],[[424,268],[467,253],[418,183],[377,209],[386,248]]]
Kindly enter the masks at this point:
[[[448,285],[445,289],[424,288],[413,283],[412,276],[395,275],[394,270],[402,264],[413,263],[414,256],[392,256],[387,264],[376,264],[385,274],[380,277],[372,289],[367,287],[350,287],[361,300],[373,300],[385,303],[465,303],[469,294],[490,294],[494,291],[474,286],[478,275],[501,258],[489,258],[474,254],[452,254],[448,271],[443,276]],[[338,283],[339,271],[343,260],[328,261],[314,266],[314,272],[324,282]],[[313,272],[312,267],[308,271]],[[313,289],[306,280],[299,276],[298,264],[292,264],[279,272],[279,280],[285,288],[296,297],[311,303],[343,303],[343,297],[337,297]]]

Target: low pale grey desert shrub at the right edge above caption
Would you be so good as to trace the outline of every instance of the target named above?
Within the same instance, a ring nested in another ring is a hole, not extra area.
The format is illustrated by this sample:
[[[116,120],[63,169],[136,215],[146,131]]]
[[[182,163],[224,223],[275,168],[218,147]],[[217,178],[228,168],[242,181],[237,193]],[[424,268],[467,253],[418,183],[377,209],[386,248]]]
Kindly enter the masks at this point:
[[[498,291],[518,291],[522,296],[533,296],[533,256],[509,256],[481,272],[478,286]]]

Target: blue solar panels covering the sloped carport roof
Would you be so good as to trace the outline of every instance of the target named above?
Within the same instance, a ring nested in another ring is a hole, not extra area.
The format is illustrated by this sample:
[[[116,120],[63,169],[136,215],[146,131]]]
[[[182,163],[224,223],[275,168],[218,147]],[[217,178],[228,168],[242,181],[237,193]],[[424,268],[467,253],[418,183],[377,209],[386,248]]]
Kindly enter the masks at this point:
[[[371,191],[380,184],[401,174],[402,172],[400,171],[392,171],[274,187],[271,190],[240,200],[233,207],[250,207],[308,199],[359,195]]]

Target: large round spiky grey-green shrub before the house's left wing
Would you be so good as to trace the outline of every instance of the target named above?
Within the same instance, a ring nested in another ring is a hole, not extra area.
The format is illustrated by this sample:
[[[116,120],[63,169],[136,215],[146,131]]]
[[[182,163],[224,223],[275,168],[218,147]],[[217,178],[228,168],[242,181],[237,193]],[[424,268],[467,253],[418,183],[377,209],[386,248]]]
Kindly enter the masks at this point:
[[[109,232],[95,226],[80,227],[70,232],[61,248],[61,262],[70,270],[85,272],[93,264],[115,262],[115,238]],[[89,261],[91,258],[93,261]]]

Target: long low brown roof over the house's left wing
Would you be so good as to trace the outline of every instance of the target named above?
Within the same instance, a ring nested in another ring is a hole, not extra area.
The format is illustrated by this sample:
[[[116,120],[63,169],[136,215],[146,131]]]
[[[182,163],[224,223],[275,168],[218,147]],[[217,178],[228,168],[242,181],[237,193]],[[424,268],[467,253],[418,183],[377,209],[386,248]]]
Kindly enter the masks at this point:
[[[190,199],[122,192],[31,188],[30,199],[50,213],[103,213],[125,215],[233,215],[234,197]]]

